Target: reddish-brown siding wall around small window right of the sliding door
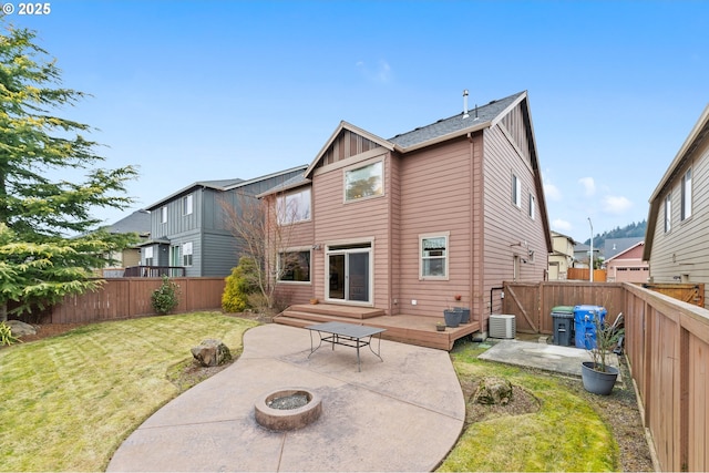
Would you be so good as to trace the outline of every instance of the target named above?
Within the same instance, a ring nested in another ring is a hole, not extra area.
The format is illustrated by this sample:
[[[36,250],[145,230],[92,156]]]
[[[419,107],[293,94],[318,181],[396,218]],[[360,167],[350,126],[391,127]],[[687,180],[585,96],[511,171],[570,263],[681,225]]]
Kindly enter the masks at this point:
[[[400,163],[399,311],[441,318],[470,294],[471,144],[446,142],[404,155]],[[448,280],[420,279],[420,235],[449,235]],[[415,301],[415,305],[413,304]]]

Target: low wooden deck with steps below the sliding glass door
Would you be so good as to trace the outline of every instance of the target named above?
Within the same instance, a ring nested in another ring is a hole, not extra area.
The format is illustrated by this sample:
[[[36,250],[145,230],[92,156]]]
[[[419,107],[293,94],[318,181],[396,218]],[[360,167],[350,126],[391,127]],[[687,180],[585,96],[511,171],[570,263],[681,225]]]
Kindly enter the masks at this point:
[[[291,327],[306,327],[314,323],[340,321],[366,325],[387,329],[382,333],[386,340],[418,345],[450,351],[459,338],[480,331],[480,322],[461,323],[456,328],[446,327],[445,331],[436,331],[435,322],[441,317],[397,315],[387,316],[377,308],[337,306],[332,304],[290,306],[274,318],[274,322]]]

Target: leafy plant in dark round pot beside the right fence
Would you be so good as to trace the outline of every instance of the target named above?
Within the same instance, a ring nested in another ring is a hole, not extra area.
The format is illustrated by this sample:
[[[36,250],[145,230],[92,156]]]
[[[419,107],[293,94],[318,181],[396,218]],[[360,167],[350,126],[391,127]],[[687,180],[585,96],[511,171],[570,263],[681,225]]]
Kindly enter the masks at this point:
[[[590,356],[590,361],[582,362],[582,381],[584,388],[594,394],[608,395],[618,378],[618,369],[608,364],[608,357],[618,345],[618,339],[623,336],[624,329],[618,328],[623,321],[623,313],[619,313],[613,325],[607,325],[599,317],[594,318],[596,327],[596,340],[586,336],[586,349]]]

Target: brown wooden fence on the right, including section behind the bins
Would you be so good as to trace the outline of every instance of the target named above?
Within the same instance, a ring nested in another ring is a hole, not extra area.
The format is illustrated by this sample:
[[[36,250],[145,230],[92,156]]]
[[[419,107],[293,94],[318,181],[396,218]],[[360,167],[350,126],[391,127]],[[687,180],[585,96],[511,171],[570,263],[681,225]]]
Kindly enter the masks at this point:
[[[517,327],[542,317],[548,333],[549,307],[577,304],[624,313],[626,356],[661,471],[709,471],[709,310],[628,282],[505,285],[505,313]]]

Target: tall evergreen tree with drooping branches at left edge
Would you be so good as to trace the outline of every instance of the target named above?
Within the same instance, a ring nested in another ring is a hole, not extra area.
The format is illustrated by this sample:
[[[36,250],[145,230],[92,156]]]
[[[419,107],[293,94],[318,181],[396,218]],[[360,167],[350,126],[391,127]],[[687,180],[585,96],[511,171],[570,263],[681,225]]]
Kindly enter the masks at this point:
[[[97,229],[94,207],[126,208],[133,166],[104,169],[86,124],[59,116],[85,94],[61,86],[35,32],[0,19],[0,320],[8,301],[23,312],[94,289],[91,269],[134,239]],[[51,178],[81,169],[85,181]],[[79,236],[75,236],[79,235]]]

